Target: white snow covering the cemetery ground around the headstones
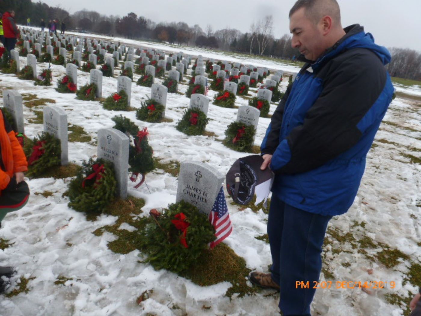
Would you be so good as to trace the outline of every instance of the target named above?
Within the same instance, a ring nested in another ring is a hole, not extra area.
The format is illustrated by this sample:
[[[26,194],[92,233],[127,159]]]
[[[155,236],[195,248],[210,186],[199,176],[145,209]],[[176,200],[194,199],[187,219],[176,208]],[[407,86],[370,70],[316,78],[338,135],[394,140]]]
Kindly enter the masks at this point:
[[[180,49],[118,38],[112,40],[168,52],[202,54],[205,59],[250,63],[289,72],[298,70],[280,62],[252,57],[242,59],[195,48]],[[26,58],[21,57],[20,62],[21,68],[24,67]],[[48,64],[38,63],[38,67],[48,67]],[[19,80],[16,75],[1,74],[0,88],[13,88],[21,94],[36,94],[38,98],[56,100],[54,105],[66,111],[69,123],[85,129],[93,138],[92,144],[96,142],[98,129],[112,127],[114,122],[111,118],[123,114],[141,128],[148,128],[154,156],[164,162],[202,161],[225,174],[237,158],[245,155],[226,148],[220,142],[224,139],[226,126],[234,121],[237,109],[210,104],[210,122],[206,130],[216,136],[189,137],[175,129],[189,104],[184,95],[168,94],[166,116],[173,122],[146,123],[137,120],[135,112],[107,111],[99,102],[84,102],[76,100],[74,94],[59,94],[55,87],[65,69],[62,66],[51,67],[53,86],[34,86],[32,81]],[[138,78],[139,75],[134,75],[135,81]],[[84,85],[88,80],[88,73],[78,71],[78,85]],[[284,78],[283,90],[286,85]],[[104,97],[116,89],[116,78],[104,78]],[[179,88],[181,92],[186,90],[187,85]],[[398,91],[421,94],[419,87],[401,86]],[[214,94],[210,91],[209,97]],[[149,95],[150,88],[133,83],[131,106],[140,107],[141,100]],[[0,105],[2,103],[3,99]],[[247,104],[247,100],[237,97],[236,104]],[[272,104],[271,113],[275,108],[276,105]],[[25,134],[31,138],[43,129],[42,124],[28,122],[34,117],[33,110],[42,110],[42,107],[24,107]],[[255,145],[260,145],[269,121],[269,118],[260,118]],[[321,279],[330,276],[334,286],[317,290],[312,303],[313,315],[403,315],[406,306],[400,303],[392,305],[388,300],[402,297],[406,298],[405,303],[409,303],[416,293],[416,284],[404,284],[404,280],[421,261],[420,122],[419,102],[394,99],[368,154],[365,175],[354,204],[349,212],[334,217],[329,224]],[[96,155],[95,145],[69,142],[70,162],[81,164],[82,160],[93,155]],[[128,182],[129,195],[146,201],[144,214],[152,208],[164,208],[175,202],[177,179],[171,174],[157,170],[147,175],[146,182],[149,189],[145,185],[134,189],[133,183]],[[107,247],[107,243],[116,238],[113,234],[105,232],[102,236],[95,236],[92,232],[112,224],[116,218],[103,215],[91,222],[82,213],[69,209],[68,199],[61,196],[67,190],[69,179],[33,179],[28,183],[32,192],[29,203],[20,211],[8,214],[2,223],[0,238],[9,240],[11,246],[0,250],[0,265],[16,268],[13,288],[18,286],[21,276],[30,279],[29,292],[11,298],[0,296],[0,315],[279,315],[279,295],[273,291],[262,290],[242,298],[234,295],[230,300],[224,295],[230,287],[228,282],[199,287],[168,271],[155,271],[150,265],[138,263],[139,251],[115,254]],[[44,191],[51,191],[53,195],[47,198],[37,195]],[[234,231],[225,240],[226,244],[245,259],[248,268],[266,271],[271,263],[269,245],[255,237],[266,233],[267,215],[262,210],[255,213],[251,209],[239,210],[229,203],[228,206]],[[120,229],[127,228],[123,226]],[[376,247],[366,246],[363,241],[367,240]],[[410,260],[398,259],[396,265],[386,268],[381,258],[386,258],[387,262],[388,254],[382,249],[399,249]],[[72,280],[62,285],[54,284],[59,276]],[[418,274],[418,280],[420,277]],[[388,283],[384,289],[371,289],[367,293],[358,288],[336,289],[336,281]],[[394,289],[391,289],[390,281],[396,282]],[[150,298],[137,305],[136,298],[149,290],[153,291]]]

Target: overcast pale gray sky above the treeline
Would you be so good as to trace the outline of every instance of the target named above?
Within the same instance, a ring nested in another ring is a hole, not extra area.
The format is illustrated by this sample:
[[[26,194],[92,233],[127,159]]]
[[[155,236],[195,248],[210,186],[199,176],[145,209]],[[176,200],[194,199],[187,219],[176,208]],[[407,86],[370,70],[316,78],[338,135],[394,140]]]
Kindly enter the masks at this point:
[[[274,36],[289,33],[288,12],[295,0],[41,0],[50,6],[75,13],[87,9],[105,15],[125,16],[134,12],[157,23],[183,21],[204,30],[207,24],[213,30],[226,27],[248,32],[253,20],[272,14]],[[341,6],[342,26],[359,23],[373,34],[376,43],[391,47],[421,51],[420,0],[338,0]]]

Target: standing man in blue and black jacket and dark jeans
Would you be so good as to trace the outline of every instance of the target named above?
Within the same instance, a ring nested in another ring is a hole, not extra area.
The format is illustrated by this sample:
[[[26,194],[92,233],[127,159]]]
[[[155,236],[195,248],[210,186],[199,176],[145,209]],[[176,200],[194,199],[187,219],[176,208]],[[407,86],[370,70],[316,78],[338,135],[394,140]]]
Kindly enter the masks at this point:
[[[272,267],[250,273],[250,281],[280,289],[284,316],[309,316],[326,227],[354,201],[393,86],[384,67],[389,52],[360,25],[343,29],[336,0],[298,0],[289,16],[292,46],[306,64],[261,144],[261,168],[275,173]]]

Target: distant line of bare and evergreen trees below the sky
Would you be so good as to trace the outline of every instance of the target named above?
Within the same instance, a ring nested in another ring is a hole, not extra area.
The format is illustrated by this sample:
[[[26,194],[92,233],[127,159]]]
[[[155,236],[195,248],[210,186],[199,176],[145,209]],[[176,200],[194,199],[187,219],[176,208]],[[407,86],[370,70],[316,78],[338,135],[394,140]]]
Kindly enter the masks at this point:
[[[126,16],[105,16],[96,11],[77,11],[70,15],[60,6],[50,7],[40,1],[2,0],[0,12],[13,8],[19,24],[31,19],[32,26],[39,26],[41,19],[45,25],[51,19],[64,21],[66,29],[87,31],[101,35],[122,36],[131,39],[147,39],[170,44],[184,44],[205,48],[218,48],[221,51],[234,51],[245,54],[291,59],[298,56],[298,50],[291,47],[291,36],[273,36],[272,16],[250,25],[250,32],[242,33],[237,29],[213,31],[208,25],[203,30],[198,24],[189,27],[184,22],[155,23],[135,13]],[[391,48],[392,62],[387,66],[390,75],[413,80],[421,80],[421,54],[409,49]]]

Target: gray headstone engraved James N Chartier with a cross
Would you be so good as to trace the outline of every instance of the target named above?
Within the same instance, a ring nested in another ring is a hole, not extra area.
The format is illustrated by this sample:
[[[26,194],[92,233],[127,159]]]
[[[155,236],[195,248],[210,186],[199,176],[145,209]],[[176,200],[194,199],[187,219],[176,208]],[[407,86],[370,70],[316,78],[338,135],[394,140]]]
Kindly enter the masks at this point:
[[[209,215],[223,182],[224,175],[206,163],[181,163],[176,202],[186,201]]]

